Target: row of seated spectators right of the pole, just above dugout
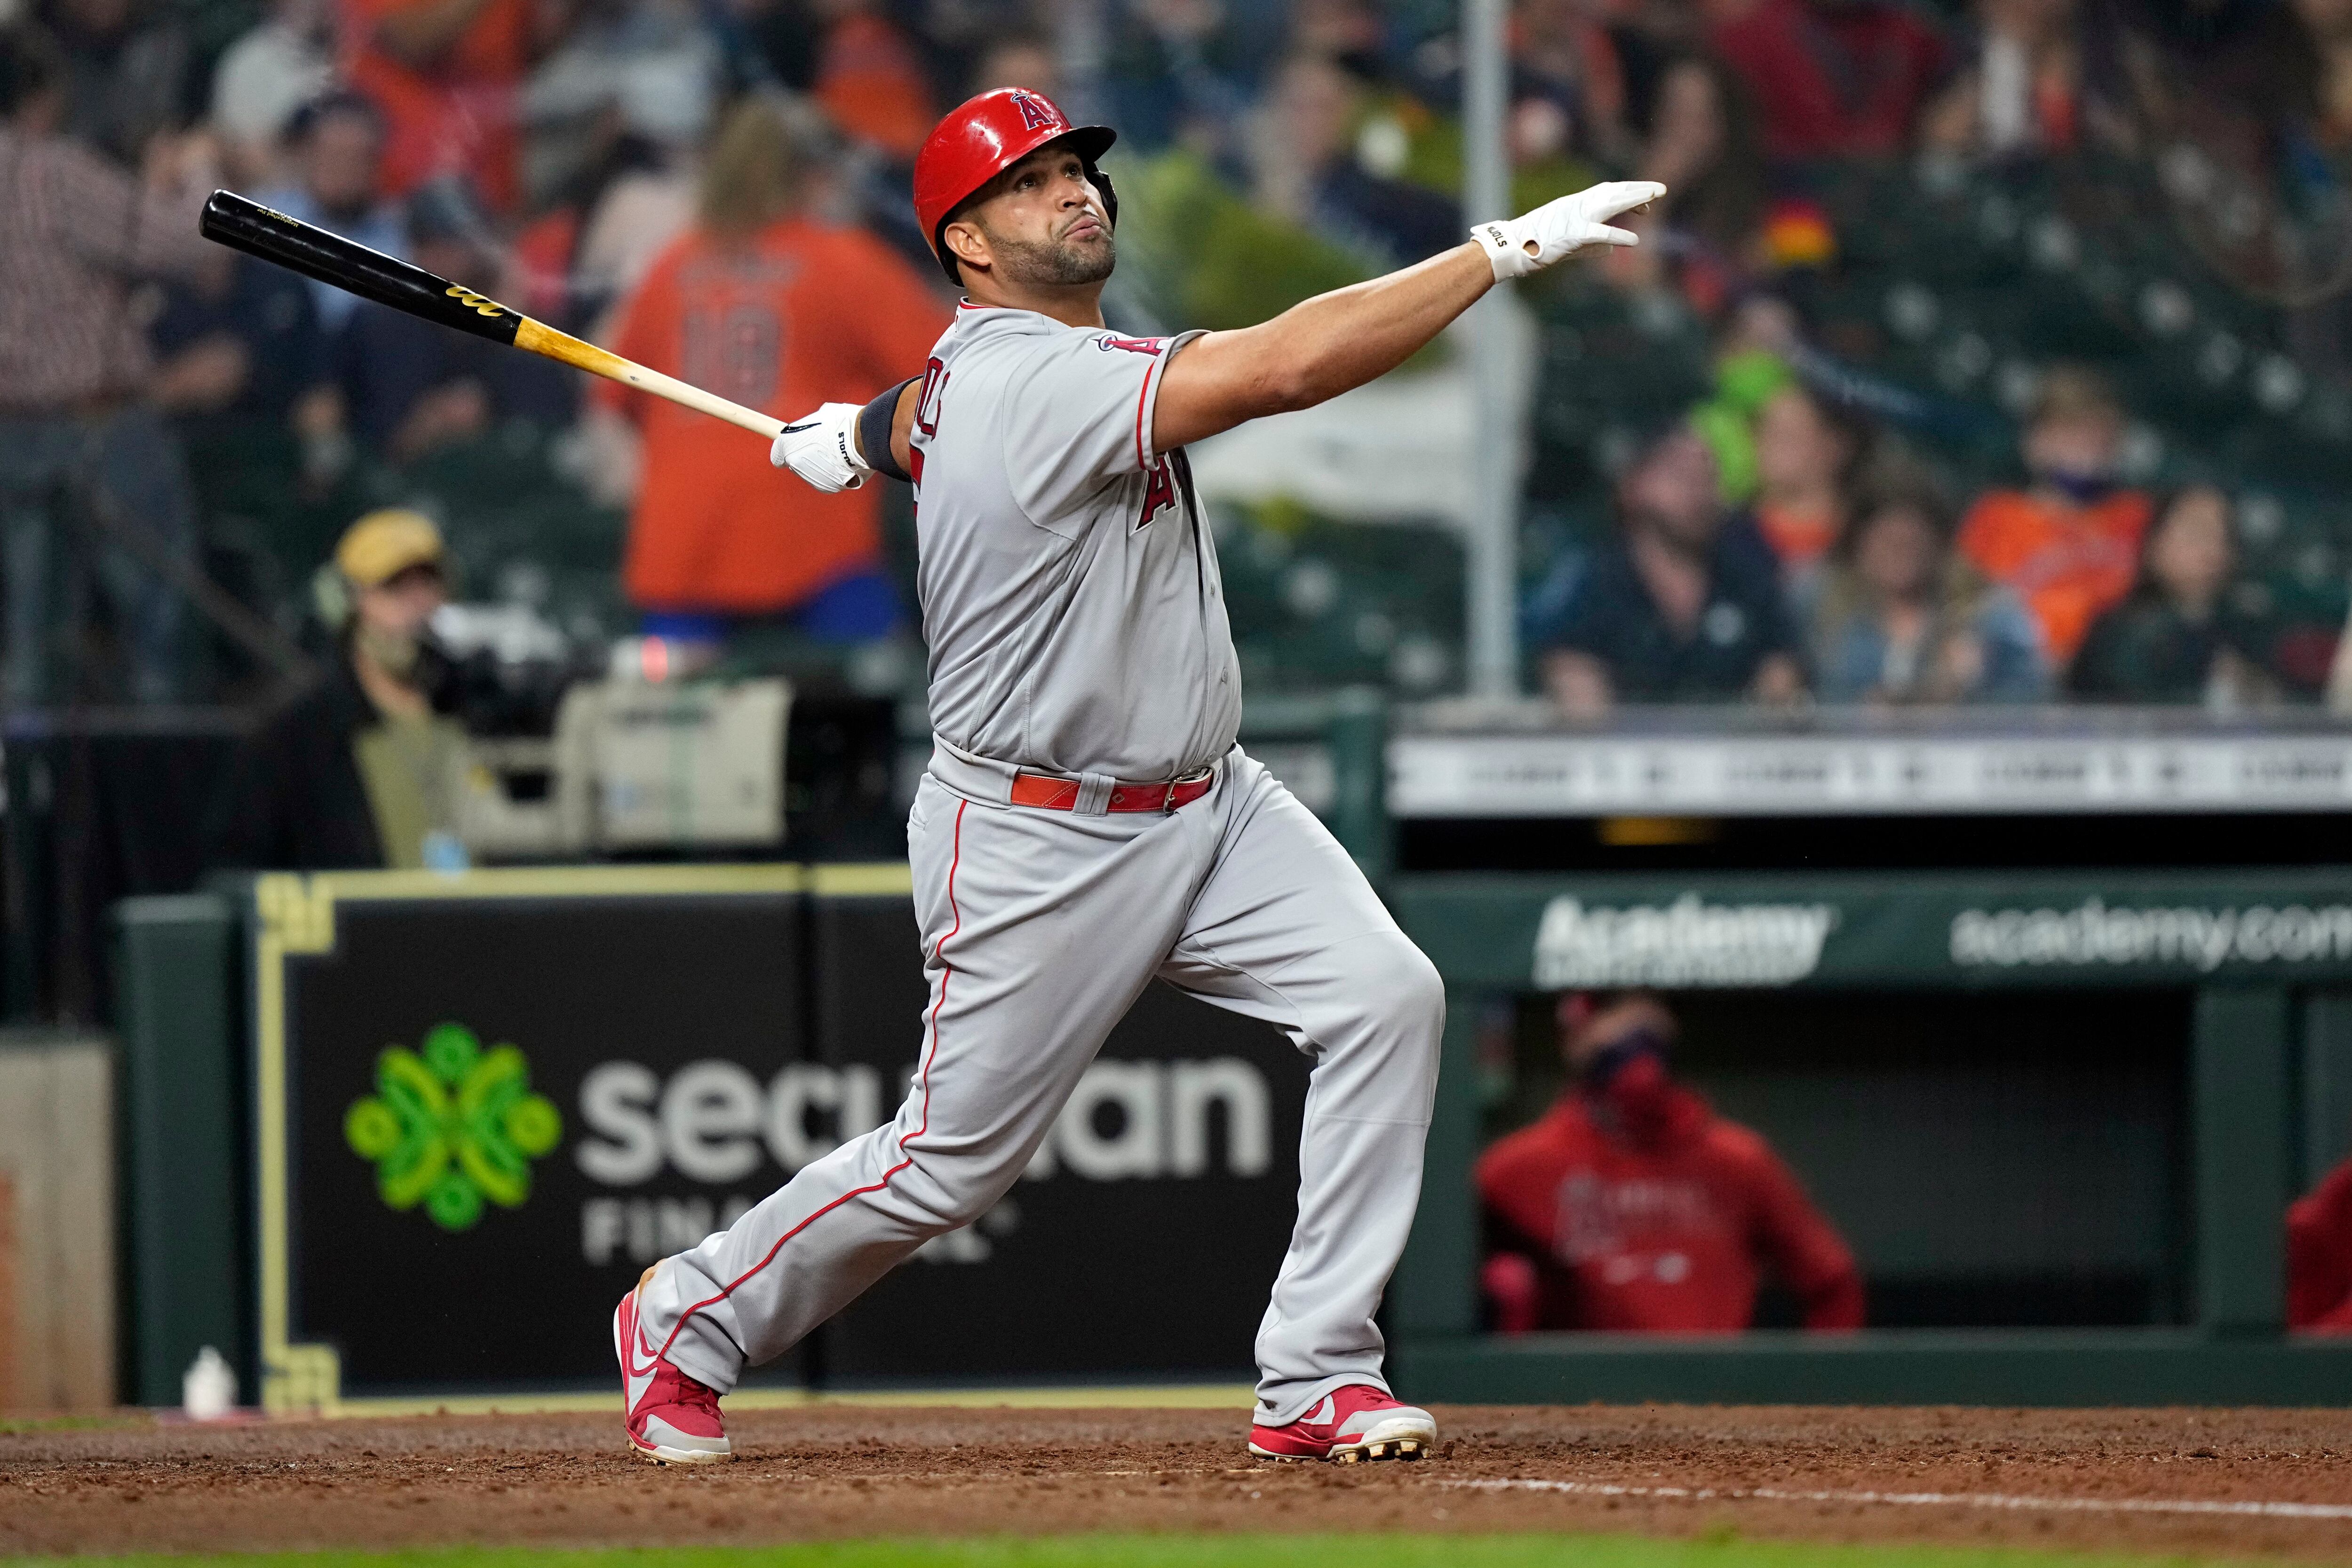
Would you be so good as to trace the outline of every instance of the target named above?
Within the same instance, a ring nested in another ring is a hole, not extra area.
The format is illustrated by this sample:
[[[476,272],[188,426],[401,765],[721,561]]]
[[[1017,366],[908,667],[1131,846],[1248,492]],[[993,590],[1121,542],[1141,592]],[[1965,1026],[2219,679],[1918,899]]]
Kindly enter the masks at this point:
[[[1543,590],[1545,691],[1576,717],[2310,696],[2326,672],[2279,658],[2237,576],[2227,491],[2126,484],[2124,428],[2096,374],[2053,367],[2025,418],[2025,482],[1962,508],[1931,463],[1795,376],[1731,458],[1752,461],[1745,501],[1724,494],[1710,430],[1679,421],[1625,463],[1616,536],[1564,552]]]

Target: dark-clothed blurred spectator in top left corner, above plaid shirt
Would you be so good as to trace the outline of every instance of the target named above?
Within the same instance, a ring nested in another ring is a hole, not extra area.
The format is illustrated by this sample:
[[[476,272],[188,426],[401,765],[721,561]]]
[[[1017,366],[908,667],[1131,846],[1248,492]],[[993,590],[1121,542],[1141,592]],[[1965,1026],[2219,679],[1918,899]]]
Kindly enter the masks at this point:
[[[64,132],[136,169],[148,143],[188,122],[195,45],[162,0],[49,0],[66,59]]]

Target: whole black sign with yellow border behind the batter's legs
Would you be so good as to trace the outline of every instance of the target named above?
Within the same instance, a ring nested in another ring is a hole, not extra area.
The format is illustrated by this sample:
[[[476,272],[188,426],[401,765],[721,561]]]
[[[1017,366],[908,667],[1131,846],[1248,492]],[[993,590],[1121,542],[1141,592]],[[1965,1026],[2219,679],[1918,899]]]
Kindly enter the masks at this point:
[[[903,865],[263,877],[270,1408],[612,1382],[612,1307],[887,1121],[924,999]],[[1305,1060],[1155,987],[1028,1180],[755,1380],[1247,1375]]]

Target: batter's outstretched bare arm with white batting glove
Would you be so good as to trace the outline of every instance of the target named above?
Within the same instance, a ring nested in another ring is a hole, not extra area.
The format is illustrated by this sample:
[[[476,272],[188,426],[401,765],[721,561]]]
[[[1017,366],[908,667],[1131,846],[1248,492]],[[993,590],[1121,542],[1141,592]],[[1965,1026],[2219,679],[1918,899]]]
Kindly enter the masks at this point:
[[[1404,364],[1496,282],[1524,277],[1588,244],[1637,244],[1609,219],[1665,195],[1613,181],[1545,202],[1508,223],[1479,223],[1468,244],[1371,282],[1301,301],[1270,322],[1211,331],[1169,360],[1152,409],[1167,451],[1249,418],[1312,409]]]

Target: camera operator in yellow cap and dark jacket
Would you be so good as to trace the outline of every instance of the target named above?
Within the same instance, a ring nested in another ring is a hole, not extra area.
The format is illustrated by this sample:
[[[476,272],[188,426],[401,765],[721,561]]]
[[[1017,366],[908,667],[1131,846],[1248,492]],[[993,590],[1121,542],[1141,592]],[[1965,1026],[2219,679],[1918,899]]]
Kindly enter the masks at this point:
[[[207,823],[207,863],[238,870],[463,865],[466,731],[426,637],[447,599],[440,529],[369,512],[320,574],[334,668],[245,743]]]

